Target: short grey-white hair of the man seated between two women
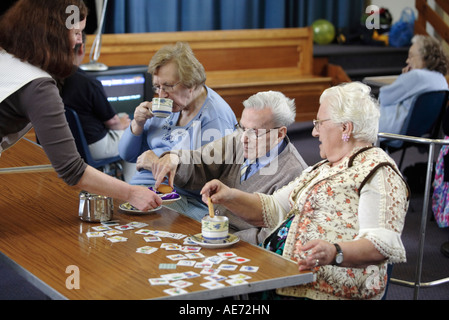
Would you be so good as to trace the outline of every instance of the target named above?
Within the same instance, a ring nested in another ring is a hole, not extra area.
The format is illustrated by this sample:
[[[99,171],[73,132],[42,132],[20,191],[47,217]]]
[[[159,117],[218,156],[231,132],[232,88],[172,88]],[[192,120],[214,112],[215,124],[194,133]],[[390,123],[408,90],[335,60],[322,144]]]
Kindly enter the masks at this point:
[[[295,122],[295,100],[287,98],[278,91],[258,92],[245,100],[243,106],[258,110],[271,108],[274,127],[288,127]]]

